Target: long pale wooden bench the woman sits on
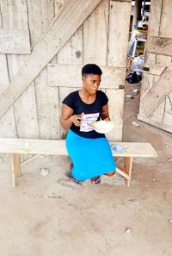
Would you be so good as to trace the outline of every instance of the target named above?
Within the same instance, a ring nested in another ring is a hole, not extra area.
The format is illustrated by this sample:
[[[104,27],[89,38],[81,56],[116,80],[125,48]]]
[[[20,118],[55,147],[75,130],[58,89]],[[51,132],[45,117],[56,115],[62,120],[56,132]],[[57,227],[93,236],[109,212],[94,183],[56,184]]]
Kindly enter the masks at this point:
[[[129,187],[132,178],[132,162],[134,157],[157,157],[157,152],[150,143],[138,142],[110,142],[111,145],[119,145],[123,153],[113,151],[114,157],[124,158],[124,168],[116,169],[126,179]],[[21,154],[31,155],[65,155],[67,150],[65,140],[30,140],[0,138],[0,153],[11,154],[12,186],[17,184],[17,178],[21,176]]]

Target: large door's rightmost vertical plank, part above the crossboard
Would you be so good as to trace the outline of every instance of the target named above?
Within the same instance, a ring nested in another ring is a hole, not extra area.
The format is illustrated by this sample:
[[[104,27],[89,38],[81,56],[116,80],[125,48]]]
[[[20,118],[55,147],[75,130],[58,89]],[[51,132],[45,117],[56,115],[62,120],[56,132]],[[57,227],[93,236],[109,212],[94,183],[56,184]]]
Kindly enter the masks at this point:
[[[130,12],[131,3],[110,0],[108,66],[126,66]]]

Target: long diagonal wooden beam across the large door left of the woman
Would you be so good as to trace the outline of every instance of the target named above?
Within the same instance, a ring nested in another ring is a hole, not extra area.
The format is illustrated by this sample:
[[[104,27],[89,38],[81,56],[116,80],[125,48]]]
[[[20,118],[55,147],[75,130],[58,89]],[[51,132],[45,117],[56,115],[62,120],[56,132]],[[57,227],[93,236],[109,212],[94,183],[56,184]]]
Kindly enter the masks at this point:
[[[0,117],[15,103],[102,0],[67,0],[0,97]]]

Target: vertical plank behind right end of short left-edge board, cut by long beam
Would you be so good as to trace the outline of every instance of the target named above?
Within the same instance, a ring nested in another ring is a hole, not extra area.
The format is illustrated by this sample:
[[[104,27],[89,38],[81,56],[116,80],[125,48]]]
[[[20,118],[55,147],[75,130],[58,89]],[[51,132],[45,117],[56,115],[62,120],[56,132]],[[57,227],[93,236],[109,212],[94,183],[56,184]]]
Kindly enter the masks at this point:
[[[28,31],[28,6],[26,1],[2,1],[3,28]],[[10,81],[15,78],[28,56],[7,54]],[[31,84],[22,97],[13,105],[17,136],[38,138],[38,123],[34,86]]]

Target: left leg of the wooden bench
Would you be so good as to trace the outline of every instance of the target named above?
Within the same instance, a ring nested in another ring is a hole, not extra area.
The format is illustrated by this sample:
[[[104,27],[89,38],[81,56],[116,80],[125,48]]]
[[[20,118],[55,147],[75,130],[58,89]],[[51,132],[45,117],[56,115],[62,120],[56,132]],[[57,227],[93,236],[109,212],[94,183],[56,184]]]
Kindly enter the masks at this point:
[[[21,176],[21,155],[13,153],[11,155],[11,172],[12,172],[12,186],[17,184],[17,178]]]

